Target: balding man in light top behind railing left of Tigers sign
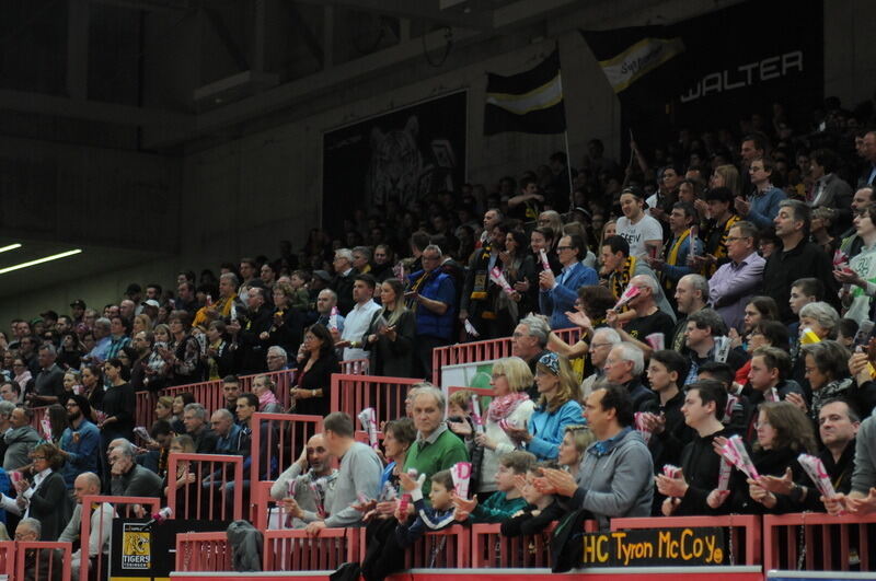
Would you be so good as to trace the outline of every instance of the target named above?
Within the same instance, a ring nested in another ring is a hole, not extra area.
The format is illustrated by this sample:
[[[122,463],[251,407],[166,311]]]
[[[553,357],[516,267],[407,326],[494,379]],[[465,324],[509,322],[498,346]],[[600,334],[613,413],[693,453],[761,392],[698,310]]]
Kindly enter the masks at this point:
[[[82,528],[82,499],[90,496],[101,493],[101,479],[93,472],[83,472],[76,477],[73,481],[73,498],[76,499],[76,508],[70,522],[67,527],[58,537],[60,543],[76,543],[79,541],[80,531]],[[101,502],[91,511],[91,533],[89,534],[89,557],[92,559],[89,563],[89,569],[96,566],[96,556],[99,553],[104,554],[102,562],[103,567],[107,567],[106,556],[110,555],[110,533],[113,530],[113,518],[115,516],[115,509],[108,502]],[[79,569],[81,567],[82,549],[78,549],[72,555],[70,560],[70,572],[73,581],[79,580]]]

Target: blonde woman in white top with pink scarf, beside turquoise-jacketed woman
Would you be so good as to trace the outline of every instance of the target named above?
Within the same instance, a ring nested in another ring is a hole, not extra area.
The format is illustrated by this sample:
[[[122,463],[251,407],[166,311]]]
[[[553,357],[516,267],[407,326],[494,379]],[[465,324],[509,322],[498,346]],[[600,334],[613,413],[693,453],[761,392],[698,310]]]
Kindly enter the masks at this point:
[[[507,357],[493,363],[489,384],[495,395],[484,414],[484,433],[474,438],[475,444],[484,448],[479,493],[497,490],[499,457],[517,448],[509,430],[526,430],[535,408],[527,395],[527,390],[532,386],[532,371],[519,357]]]

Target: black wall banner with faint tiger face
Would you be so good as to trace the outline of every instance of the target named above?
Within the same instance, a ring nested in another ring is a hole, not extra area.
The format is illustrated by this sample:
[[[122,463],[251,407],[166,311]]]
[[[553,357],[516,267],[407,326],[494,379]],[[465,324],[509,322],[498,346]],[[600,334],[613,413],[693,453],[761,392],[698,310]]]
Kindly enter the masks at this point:
[[[465,179],[465,91],[371,117],[323,137],[323,225],[402,207]],[[367,234],[362,232],[361,234]]]

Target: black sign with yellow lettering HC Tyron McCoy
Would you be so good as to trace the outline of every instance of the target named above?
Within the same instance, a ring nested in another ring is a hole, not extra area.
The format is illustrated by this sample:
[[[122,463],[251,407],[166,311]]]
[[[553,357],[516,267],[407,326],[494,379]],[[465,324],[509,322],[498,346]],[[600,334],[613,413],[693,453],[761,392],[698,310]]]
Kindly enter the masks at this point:
[[[643,528],[586,533],[581,567],[724,565],[724,530]]]

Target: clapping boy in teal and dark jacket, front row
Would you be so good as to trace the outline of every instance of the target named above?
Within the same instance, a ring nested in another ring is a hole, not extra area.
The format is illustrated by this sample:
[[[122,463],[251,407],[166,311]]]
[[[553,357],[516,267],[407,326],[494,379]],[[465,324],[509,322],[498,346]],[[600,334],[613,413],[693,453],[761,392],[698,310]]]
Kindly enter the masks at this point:
[[[499,457],[499,469],[496,472],[496,487],[483,504],[477,497],[471,500],[454,498],[457,521],[471,516],[472,523],[500,523],[509,520],[518,511],[527,508],[527,501],[515,481],[518,476],[526,478],[527,472],[535,465],[535,455],[531,452],[515,450]]]

